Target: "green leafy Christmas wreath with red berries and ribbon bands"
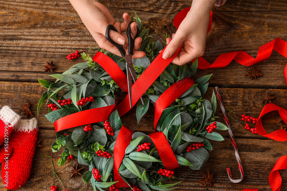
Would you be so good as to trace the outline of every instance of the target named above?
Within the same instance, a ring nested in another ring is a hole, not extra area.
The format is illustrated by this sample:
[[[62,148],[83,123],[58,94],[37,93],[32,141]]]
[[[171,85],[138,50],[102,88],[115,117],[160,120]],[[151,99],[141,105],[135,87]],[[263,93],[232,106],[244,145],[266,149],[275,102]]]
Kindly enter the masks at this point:
[[[133,59],[140,84],[141,76],[148,72],[163,47],[160,41],[152,41],[154,34],[147,35],[149,29],[143,29],[136,14],[134,19],[143,39],[140,50],[146,53],[143,58]],[[203,98],[211,75],[195,81],[191,79],[197,69],[197,60],[190,68],[186,64],[167,64],[145,93],[139,95],[142,95],[144,105],[141,101],[137,103],[138,123],[149,103],[156,110],[156,132],[146,135],[124,127],[120,119],[129,111],[129,104],[127,107],[122,104],[124,100],[117,105],[117,96],[126,89],[120,84],[124,80],[115,73],[126,70],[125,60],[103,49],[99,49],[94,58],[84,52],[80,55],[86,62],[75,64],[62,74],[50,75],[57,78],[56,82],[38,80],[47,91],[42,95],[37,111],[48,99],[49,113],[45,117],[56,129],[56,140],[51,148],[53,152],[62,151],[58,165],[62,166],[74,157],[80,164],[88,165],[89,171],[84,173],[83,181],[90,181],[94,190],[108,187],[110,190],[122,187],[172,190],[177,183],[162,182],[175,178],[175,168],[201,169],[209,157],[207,149],[212,150],[208,139],[224,140],[215,132],[227,127],[215,121],[214,92],[211,102]],[[115,67],[107,69],[104,64],[112,61]]]

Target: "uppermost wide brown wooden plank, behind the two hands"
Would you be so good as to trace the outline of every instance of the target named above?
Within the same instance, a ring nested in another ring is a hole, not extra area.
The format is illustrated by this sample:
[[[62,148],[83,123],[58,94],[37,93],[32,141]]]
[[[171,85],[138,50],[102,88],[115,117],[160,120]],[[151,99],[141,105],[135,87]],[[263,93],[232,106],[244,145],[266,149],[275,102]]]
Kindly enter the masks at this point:
[[[63,72],[69,66],[81,62],[79,58],[73,61],[67,60],[65,58],[67,54],[75,50],[97,47],[96,42],[67,1],[56,5],[53,1],[2,2],[0,15],[2,26],[0,40],[3,42],[0,47],[0,55],[2,55],[0,70],[3,72],[0,80],[2,81],[13,79],[36,82],[39,78],[47,79],[48,74],[45,76],[45,73],[42,73],[46,61],[51,62],[53,60],[57,66],[55,72]],[[176,31],[172,25],[174,15],[189,4],[188,2],[172,2],[174,6],[169,5],[169,7],[175,8],[170,8],[170,11],[166,12],[166,6],[170,1],[164,5],[157,1],[150,1],[148,5],[145,1],[141,1],[138,5],[131,1],[125,2],[126,9],[122,9],[123,5],[118,5],[116,1],[104,3],[119,21],[122,13],[127,10],[132,13],[131,8],[134,7],[138,10],[137,13],[144,26],[150,27],[152,33],[158,33],[159,35],[155,39],[161,41],[163,41],[163,36],[160,34],[171,34]],[[269,7],[265,12],[229,11],[238,10],[238,8],[235,9],[236,6],[239,6],[238,2],[235,1],[227,2],[223,7],[214,8],[221,11],[214,11],[212,30],[208,35],[206,54],[203,57],[212,63],[220,54],[238,50],[244,50],[256,57],[259,46],[275,38],[286,40],[287,25],[284,21],[287,18],[286,11],[278,10],[281,3],[282,1],[275,3],[264,1],[260,8]],[[251,4],[256,4],[256,1],[250,0],[246,5],[241,6],[243,8],[246,6],[249,9]],[[18,9],[22,11],[19,12]],[[67,18],[70,19],[67,20]],[[226,33],[229,34],[226,35]],[[222,41],[223,43],[221,43]],[[90,51],[91,55],[94,53],[95,51]],[[234,62],[223,69],[202,70],[195,77],[214,73],[212,81],[216,79],[216,83],[211,82],[211,85],[225,86],[226,80],[228,80],[229,87],[256,86],[262,88],[262,84],[265,84],[264,87],[268,88],[286,88],[283,76],[278,75],[278,71],[283,74],[285,64],[286,58],[274,52],[271,58],[255,66],[260,68],[260,72],[263,74],[258,80],[250,82],[245,77],[246,68]],[[238,67],[241,69],[238,70]],[[37,73],[29,76],[22,71],[35,71]]]

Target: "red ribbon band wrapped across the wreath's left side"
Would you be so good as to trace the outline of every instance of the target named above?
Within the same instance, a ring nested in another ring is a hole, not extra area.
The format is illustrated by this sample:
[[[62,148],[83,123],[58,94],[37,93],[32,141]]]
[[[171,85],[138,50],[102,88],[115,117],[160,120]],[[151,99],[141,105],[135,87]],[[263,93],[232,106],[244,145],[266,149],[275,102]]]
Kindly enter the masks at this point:
[[[117,98],[115,99],[114,105],[88,109],[61,117],[54,122],[55,131],[58,132],[72,127],[108,120],[108,117],[114,111],[116,104]]]

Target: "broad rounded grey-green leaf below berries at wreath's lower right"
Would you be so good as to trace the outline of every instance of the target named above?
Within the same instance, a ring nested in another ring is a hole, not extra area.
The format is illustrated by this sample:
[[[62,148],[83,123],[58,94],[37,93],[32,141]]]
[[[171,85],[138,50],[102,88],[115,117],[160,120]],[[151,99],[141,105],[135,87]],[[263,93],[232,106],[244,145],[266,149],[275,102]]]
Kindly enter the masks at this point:
[[[193,170],[200,170],[203,165],[207,162],[209,157],[208,151],[202,147],[199,149],[195,149],[191,152],[188,152],[185,156],[191,164],[194,166],[190,166]]]

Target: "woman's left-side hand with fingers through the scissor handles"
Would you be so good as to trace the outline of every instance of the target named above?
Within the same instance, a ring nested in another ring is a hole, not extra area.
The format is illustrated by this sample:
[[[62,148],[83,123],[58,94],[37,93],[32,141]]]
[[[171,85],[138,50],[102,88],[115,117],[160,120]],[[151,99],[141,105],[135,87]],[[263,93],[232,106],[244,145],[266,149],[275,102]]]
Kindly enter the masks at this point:
[[[128,51],[127,35],[122,34],[122,32],[127,30],[127,27],[131,22],[131,17],[127,13],[123,14],[124,22],[119,23],[114,19],[110,11],[96,0],[70,0],[70,2],[101,48],[121,56],[119,50],[106,40],[106,27],[109,24],[112,24],[119,32],[117,33],[110,30],[110,38],[114,42],[122,44],[126,52]],[[131,34],[134,37],[136,33],[137,24],[134,22],[131,24]],[[141,46],[141,40],[142,39],[140,37],[135,39],[133,58],[140,58],[146,55],[144,52],[138,51]]]

